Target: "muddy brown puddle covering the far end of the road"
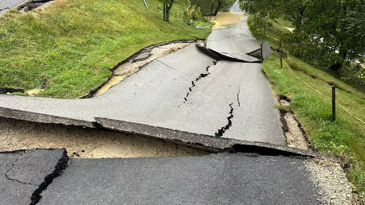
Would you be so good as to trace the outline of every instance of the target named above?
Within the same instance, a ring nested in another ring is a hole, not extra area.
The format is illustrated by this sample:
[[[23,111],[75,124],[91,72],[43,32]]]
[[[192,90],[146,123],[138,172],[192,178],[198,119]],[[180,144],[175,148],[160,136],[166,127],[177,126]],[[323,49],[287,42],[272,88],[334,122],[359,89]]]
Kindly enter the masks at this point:
[[[212,16],[214,20],[211,21],[215,23],[212,29],[227,28],[227,24],[237,23],[243,18],[245,15],[242,13],[218,12],[216,16]]]

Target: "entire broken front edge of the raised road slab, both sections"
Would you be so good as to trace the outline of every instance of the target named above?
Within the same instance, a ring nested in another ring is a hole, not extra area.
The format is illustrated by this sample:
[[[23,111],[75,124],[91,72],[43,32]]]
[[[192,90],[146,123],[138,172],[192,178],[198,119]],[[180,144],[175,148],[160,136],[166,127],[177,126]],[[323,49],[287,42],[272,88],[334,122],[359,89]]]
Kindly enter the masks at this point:
[[[190,146],[212,153],[255,152],[260,155],[304,156],[309,158],[326,157],[338,160],[338,158],[333,155],[302,150],[299,148],[281,146],[265,142],[225,139],[210,135],[197,134],[164,127],[155,127],[152,125],[139,124],[128,121],[113,120],[103,117],[95,117],[95,121],[92,122],[2,107],[0,107],[0,117],[33,121],[37,123],[76,125],[82,126],[84,128],[105,128],[113,131],[131,133],[153,139],[166,140],[175,144]]]

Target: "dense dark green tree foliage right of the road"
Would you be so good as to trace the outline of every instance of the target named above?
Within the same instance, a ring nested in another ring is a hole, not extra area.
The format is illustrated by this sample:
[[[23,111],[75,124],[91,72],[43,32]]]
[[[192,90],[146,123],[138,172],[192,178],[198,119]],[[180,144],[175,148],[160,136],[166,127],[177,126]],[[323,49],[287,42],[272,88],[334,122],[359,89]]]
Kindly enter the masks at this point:
[[[365,5],[362,0],[239,0],[256,24],[282,16],[296,27],[287,34],[292,54],[338,70],[365,54]]]

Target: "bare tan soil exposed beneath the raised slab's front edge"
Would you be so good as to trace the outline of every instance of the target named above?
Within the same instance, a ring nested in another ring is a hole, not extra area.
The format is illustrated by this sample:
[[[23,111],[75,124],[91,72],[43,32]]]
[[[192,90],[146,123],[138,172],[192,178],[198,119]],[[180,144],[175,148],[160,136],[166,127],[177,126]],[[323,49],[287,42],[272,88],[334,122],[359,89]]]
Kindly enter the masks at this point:
[[[0,117],[0,151],[29,148],[66,148],[69,155],[77,158],[210,154],[192,147],[137,135]]]

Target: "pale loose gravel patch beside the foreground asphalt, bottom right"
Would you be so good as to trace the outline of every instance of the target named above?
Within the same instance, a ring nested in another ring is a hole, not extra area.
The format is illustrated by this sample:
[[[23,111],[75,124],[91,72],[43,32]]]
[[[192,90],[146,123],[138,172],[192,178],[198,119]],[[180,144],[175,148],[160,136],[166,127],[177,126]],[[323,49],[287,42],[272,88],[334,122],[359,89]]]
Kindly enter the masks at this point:
[[[318,200],[328,205],[359,205],[354,186],[349,182],[339,162],[313,158],[305,163],[310,179],[318,187]]]

